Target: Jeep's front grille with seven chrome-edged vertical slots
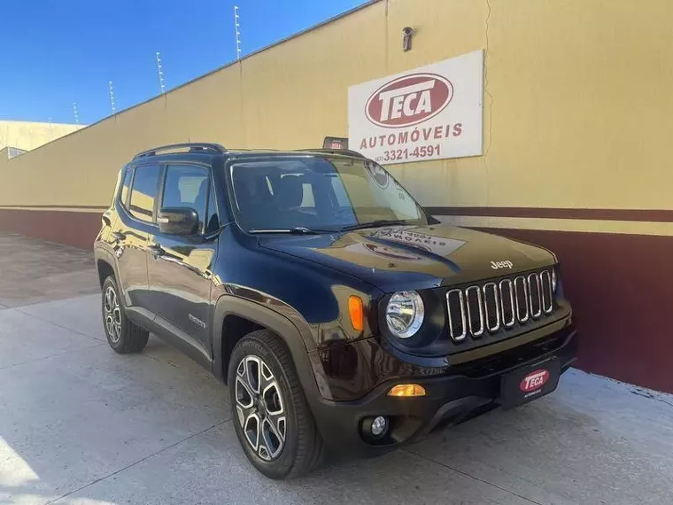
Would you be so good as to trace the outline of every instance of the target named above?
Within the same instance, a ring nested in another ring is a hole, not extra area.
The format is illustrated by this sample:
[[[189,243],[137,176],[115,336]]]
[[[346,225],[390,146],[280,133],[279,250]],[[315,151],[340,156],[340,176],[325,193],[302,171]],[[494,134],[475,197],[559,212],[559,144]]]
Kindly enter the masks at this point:
[[[454,342],[538,321],[553,312],[552,274],[543,270],[453,289],[446,293],[446,308]]]

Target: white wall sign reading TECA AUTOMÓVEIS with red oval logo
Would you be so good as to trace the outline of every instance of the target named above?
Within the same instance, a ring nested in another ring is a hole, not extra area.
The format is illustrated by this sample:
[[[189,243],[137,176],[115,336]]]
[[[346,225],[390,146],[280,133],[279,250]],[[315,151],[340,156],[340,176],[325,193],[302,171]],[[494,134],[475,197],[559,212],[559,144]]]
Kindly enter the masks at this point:
[[[483,153],[483,51],[348,89],[348,144],[382,164]]]

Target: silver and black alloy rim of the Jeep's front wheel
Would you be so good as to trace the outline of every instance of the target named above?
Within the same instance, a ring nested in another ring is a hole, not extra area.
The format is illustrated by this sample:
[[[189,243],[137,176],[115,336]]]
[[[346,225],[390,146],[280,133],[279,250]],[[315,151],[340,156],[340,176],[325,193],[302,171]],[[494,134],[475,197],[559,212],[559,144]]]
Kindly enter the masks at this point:
[[[285,447],[287,423],[280,385],[259,356],[248,354],[236,367],[236,415],[248,445],[264,461]]]

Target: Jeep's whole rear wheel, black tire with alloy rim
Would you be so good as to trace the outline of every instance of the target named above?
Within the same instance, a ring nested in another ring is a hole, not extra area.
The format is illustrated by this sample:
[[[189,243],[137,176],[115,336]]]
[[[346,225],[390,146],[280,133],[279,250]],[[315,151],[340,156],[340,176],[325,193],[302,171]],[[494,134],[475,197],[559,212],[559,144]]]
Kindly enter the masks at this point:
[[[107,277],[101,303],[107,343],[119,354],[140,353],[147,346],[150,332],[128,320],[119,293],[114,277]]]

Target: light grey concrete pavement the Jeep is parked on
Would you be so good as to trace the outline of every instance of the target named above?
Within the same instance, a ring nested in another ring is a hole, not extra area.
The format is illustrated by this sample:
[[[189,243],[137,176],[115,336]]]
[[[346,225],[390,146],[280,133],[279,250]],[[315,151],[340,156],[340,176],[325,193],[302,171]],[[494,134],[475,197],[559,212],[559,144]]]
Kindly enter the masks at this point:
[[[55,260],[69,253],[77,281],[59,289],[73,298],[0,309],[2,504],[673,502],[673,398],[576,370],[544,399],[391,455],[268,480],[204,369],[154,337],[142,354],[109,349],[99,295],[80,296],[92,263]]]

